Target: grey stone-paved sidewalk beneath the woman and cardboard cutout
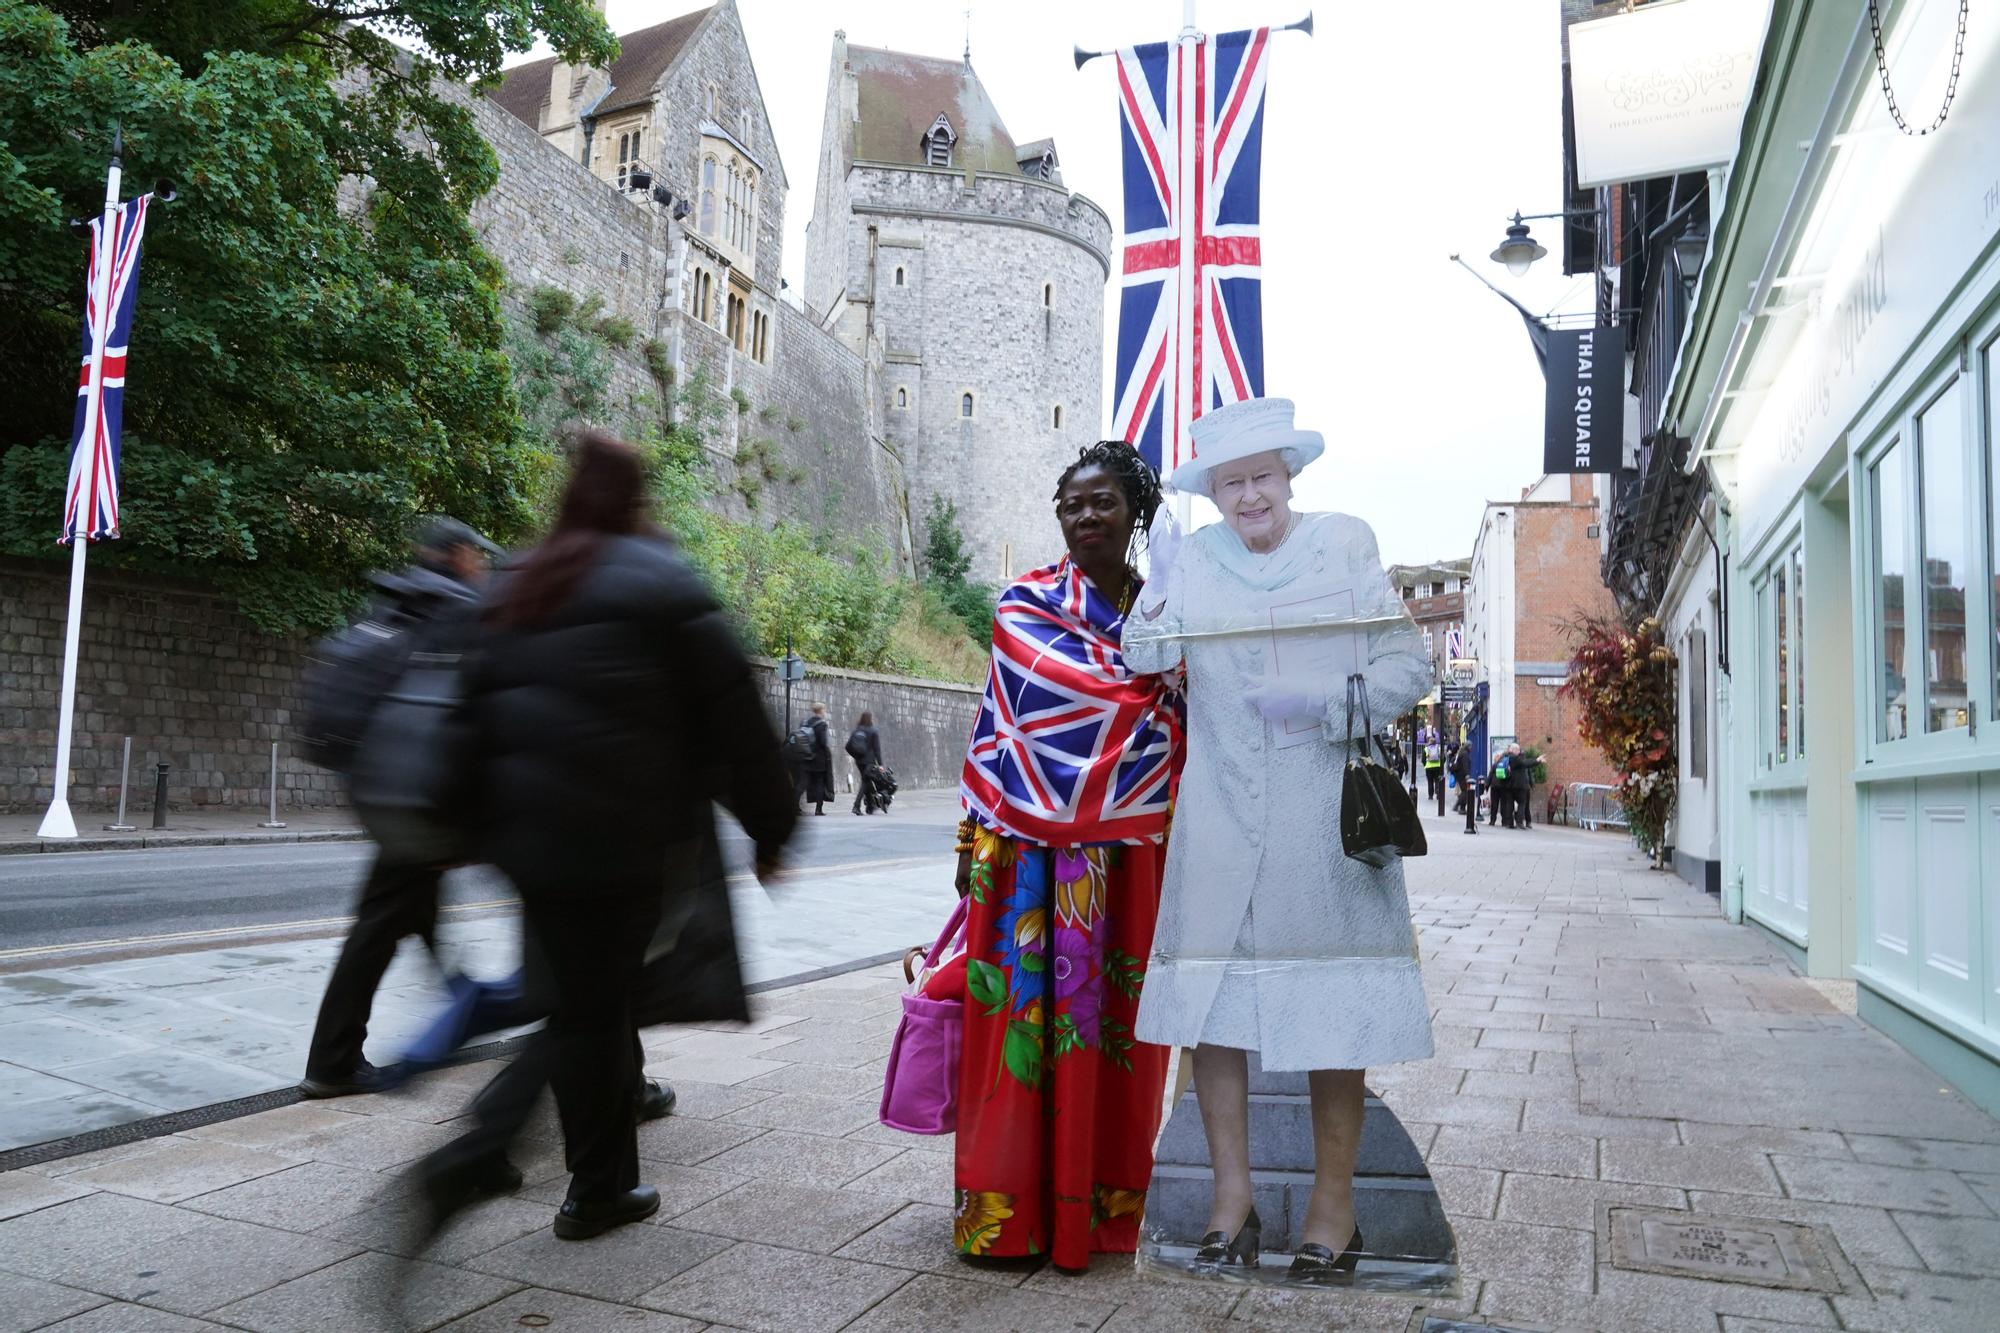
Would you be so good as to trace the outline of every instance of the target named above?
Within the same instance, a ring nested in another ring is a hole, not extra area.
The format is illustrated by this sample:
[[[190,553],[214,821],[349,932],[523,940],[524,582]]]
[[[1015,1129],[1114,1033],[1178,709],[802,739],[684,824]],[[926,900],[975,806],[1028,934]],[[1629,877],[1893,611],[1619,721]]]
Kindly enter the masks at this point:
[[[642,1131],[666,1199],[652,1225],[552,1239],[564,1179],[544,1115],[530,1183],[410,1269],[408,1327],[2000,1327],[2000,1125],[1622,839],[1430,833],[1410,869],[1438,1055],[1370,1083],[1450,1211],[1456,1301],[1240,1291],[1118,1259],[1086,1277],[966,1265],[950,1141],[874,1123],[898,979],[870,969],[764,995],[748,1029],[650,1033],[650,1071],[682,1095]],[[0,1175],[0,1275],[16,1275],[0,1329],[404,1327],[382,1305],[408,1249],[396,1173],[488,1073]],[[1804,1223],[1832,1287],[1618,1267],[1612,1209],[1632,1207]]]

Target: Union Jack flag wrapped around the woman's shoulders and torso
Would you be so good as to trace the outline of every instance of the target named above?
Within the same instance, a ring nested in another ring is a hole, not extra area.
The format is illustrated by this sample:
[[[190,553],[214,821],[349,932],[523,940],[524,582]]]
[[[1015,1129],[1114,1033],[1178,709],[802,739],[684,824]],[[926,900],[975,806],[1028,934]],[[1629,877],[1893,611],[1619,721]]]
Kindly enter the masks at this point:
[[[958,789],[990,829],[1042,843],[1150,843],[1180,765],[1178,701],[1120,652],[1120,612],[1068,556],[1016,578]]]

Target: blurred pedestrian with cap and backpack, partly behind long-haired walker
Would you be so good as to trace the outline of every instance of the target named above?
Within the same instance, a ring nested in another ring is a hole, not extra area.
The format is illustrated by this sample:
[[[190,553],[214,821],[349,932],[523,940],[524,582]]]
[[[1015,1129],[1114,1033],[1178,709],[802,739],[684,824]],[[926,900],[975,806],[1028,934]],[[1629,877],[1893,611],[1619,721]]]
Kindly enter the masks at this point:
[[[456,518],[426,522],[416,534],[416,564],[376,574],[378,596],[368,616],[324,638],[306,669],[304,753],[348,777],[354,813],[378,847],[354,907],[354,927],[320,1001],[300,1083],[304,1097],[348,1097],[388,1085],[388,1077],[362,1057],[376,987],[406,935],[436,953],[438,883],[462,857],[448,841],[412,837],[404,811],[378,795],[372,773],[382,765],[370,765],[364,747],[380,751],[398,741],[370,739],[370,723],[414,666],[434,675],[456,671],[474,634],[478,584],[496,550]]]

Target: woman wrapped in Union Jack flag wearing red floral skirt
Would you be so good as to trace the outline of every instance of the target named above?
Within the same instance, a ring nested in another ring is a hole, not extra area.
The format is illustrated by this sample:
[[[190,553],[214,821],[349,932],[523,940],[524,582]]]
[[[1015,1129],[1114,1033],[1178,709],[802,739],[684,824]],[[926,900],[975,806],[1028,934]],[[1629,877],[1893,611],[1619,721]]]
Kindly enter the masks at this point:
[[[1138,1249],[1168,1053],[1138,1041],[1180,701],[1124,662],[1160,480],[1122,440],[1056,486],[1064,558],[1016,578],[960,791],[968,897],[954,1241],[1084,1269]]]

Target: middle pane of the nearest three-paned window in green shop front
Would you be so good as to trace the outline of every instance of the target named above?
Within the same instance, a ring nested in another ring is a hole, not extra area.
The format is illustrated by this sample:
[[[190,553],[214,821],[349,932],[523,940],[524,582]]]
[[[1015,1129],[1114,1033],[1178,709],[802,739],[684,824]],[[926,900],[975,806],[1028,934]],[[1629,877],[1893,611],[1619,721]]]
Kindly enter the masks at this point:
[[[1964,402],[1954,380],[1916,416],[1924,570],[1924,731],[1966,725]]]

